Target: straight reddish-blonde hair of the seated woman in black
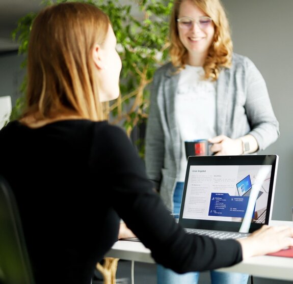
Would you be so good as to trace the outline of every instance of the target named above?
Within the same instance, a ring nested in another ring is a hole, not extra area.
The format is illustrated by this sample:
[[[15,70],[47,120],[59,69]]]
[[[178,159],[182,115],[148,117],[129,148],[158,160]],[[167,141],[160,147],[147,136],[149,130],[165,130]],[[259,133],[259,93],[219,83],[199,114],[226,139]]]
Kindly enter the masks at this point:
[[[110,20],[97,7],[62,3],[35,18],[28,50],[27,108],[22,117],[54,119],[71,114],[104,119],[92,48],[103,44]]]

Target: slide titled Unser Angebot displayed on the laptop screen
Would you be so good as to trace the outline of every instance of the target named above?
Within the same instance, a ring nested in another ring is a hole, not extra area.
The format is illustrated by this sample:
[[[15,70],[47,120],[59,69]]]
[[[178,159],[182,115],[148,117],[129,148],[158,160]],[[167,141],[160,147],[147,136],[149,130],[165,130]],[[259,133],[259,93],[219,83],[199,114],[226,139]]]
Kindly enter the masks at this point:
[[[271,165],[191,166],[182,217],[241,222],[261,167],[269,167],[269,174],[258,192],[252,221],[263,223]]]

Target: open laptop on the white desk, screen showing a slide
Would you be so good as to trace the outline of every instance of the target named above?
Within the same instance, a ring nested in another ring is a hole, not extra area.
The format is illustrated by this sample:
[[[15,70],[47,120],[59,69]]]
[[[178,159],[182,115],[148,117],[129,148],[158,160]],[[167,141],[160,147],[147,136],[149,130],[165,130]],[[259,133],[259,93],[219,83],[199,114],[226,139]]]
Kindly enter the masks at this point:
[[[277,155],[190,156],[178,223],[220,239],[246,237],[270,224],[277,167]]]

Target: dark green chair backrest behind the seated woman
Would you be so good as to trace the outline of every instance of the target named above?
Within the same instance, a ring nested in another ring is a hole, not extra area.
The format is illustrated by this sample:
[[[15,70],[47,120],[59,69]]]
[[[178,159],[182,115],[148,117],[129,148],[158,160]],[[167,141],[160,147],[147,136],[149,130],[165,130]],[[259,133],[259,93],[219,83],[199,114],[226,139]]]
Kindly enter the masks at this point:
[[[22,232],[17,203],[0,175],[0,283],[35,283]]]

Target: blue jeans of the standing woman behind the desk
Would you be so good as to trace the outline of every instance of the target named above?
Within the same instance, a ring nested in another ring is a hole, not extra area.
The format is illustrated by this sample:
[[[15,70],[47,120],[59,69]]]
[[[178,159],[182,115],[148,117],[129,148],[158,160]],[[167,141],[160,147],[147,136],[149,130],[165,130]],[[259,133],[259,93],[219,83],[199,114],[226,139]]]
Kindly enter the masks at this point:
[[[182,200],[183,182],[177,182],[174,191],[174,215],[180,213],[180,205]],[[210,278],[212,284],[246,284],[248,281],[248,274],[242,273],[227,273],[210,271]],[[189,272],[185,274],[178,274],[171,269],[167,269],[162,265],[157,265],[157,284],[197,284],[199,279],[199,272]]]

